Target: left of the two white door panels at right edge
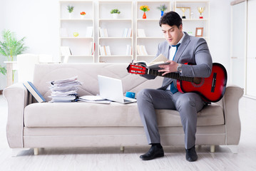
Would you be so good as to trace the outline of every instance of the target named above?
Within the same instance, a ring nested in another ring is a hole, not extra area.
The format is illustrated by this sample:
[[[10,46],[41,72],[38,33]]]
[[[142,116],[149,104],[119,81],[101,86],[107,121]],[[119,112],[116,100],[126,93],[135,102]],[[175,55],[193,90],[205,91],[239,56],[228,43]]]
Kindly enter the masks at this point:
[[[247,2],[231,6],[231,72],[232,84],[245,88],[246,10]]]

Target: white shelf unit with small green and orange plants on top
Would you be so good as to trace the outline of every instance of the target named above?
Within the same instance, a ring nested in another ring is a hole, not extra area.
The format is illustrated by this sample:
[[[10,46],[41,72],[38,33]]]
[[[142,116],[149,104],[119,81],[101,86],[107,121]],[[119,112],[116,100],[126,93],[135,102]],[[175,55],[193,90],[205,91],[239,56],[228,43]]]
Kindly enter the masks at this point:
[[[67,6],[74,6],[71,15],[68,13]],[[94,4],[93,1],[59,1],[59,62],[63,62],[61,46],[68,46],[71,55],[68,55],[68,63],[72,62],[94,62]],[[81,12],[85,11],[84,18]],[[92,27],[90,35],[87,34],[88,27]],[[73,36],[73,33],[78,36]]]

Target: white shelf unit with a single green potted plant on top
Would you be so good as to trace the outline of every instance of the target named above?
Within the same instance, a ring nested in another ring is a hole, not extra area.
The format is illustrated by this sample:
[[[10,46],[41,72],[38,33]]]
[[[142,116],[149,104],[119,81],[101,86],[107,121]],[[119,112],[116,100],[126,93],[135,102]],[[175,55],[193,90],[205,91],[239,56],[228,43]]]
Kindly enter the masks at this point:
[[[118,19],[113,19],[112,9],[121,11]],[[107,37],[101,36],[100,28],[106,29]],[[130,28],[131,36],[123,37],[125,28]],[[109,46],[111,55],[102,54],[100,46]],[[130,46],[128,52],[127,46]],[[133,1],[98,1],[98,62],[130,62],[133,59],[132,51]]]

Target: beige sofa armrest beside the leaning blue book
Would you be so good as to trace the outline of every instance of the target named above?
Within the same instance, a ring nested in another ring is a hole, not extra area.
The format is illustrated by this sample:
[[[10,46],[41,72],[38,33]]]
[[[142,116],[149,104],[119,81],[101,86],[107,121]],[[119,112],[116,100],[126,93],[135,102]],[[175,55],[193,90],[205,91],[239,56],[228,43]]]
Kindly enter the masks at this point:
[[[31,95],[22,83],[4,88],[8,103],[6,136],[11,148],[23,147],[24,108],[31,103]]]

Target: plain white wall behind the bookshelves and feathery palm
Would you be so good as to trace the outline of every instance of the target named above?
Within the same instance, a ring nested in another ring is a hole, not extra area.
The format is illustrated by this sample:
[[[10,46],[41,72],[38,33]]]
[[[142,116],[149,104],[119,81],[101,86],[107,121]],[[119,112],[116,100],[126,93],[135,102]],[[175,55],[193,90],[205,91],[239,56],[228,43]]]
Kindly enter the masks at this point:
[[[187,0],[189,1],[189,0]],[[213,62],[222,63],[230,70],[230,1],[210,0],[210,53]],[[98,0],[95,0],[96,13]],[[173,5],[173,4],[172,4]],[[0,0],[0,31],[26,36],[26,53],[58,56],[58,0]],[[155,47],[157,48],[157,47]],[[2,56],[0,63],[2,65]],[[0,76],[0,89],[6,78]]]

